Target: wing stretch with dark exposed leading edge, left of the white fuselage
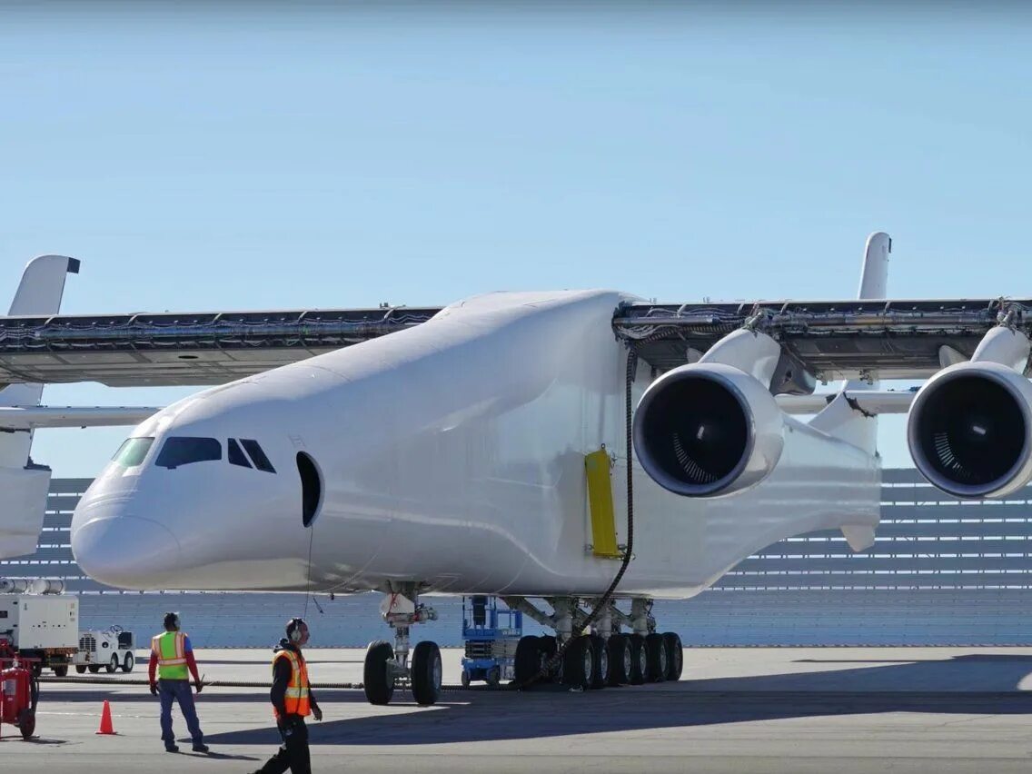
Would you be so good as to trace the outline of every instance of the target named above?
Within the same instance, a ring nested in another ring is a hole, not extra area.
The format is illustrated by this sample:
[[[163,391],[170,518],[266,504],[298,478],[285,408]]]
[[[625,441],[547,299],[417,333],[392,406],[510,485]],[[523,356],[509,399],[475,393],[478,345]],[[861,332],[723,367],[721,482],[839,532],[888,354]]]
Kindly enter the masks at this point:
[[[0,318],[0,385],[231,382],[418,325],[439,308]]]

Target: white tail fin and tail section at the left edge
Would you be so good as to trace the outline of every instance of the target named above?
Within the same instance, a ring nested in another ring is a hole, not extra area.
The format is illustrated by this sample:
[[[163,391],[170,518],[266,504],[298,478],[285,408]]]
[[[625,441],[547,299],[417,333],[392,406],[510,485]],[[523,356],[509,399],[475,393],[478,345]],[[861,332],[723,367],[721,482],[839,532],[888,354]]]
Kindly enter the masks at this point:
[[[78,261],[42,255],[29,261],[14,292],[10,315],[55,315],[61,310],[65,278],[78,273]],[[41,384],[0,389],[0,406],[39,406]],[[35,552],[46,510],[51,470],[29,456],[32,431],[0,433],[0,558]]]

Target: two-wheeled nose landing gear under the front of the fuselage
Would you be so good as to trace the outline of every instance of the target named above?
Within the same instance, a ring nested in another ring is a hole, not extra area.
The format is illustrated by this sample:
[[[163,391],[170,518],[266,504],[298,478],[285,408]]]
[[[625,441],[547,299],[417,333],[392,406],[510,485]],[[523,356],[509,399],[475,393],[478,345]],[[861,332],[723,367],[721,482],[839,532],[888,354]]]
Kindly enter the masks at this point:
[[[405,583],[386,594],[380,612],[394,630],[394,644],[378,640],[365,650],[363,685],[369,704],[389,704],[394,688],[409,687],[422,706],[436,703],[441,695],[441,650],[437,643],[421,642],[412,652],[409,666],[409,627],[437,620],[433,608],[419,603],[418,586]]]

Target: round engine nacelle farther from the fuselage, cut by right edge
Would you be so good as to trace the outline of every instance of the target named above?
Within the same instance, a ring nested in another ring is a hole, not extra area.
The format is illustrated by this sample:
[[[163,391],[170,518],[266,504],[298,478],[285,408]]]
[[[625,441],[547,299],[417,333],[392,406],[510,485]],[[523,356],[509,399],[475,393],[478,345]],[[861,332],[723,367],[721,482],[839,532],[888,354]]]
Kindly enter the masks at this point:
[[[1001,497],[1032,480],[1032,385],[1006,365],[967,362],[913,399],[907,445],[922,475],[959,497]]]

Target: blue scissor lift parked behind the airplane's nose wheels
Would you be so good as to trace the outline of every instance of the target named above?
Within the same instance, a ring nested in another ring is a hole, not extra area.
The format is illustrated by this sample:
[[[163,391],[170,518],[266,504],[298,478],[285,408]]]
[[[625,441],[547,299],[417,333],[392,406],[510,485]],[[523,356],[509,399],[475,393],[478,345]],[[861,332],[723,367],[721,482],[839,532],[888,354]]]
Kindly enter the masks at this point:
[[[483,680],[497,685],[515,679],[516,643],[523,636],[523,614],[498,609],[494,596],[462,598],[462,684]]]

